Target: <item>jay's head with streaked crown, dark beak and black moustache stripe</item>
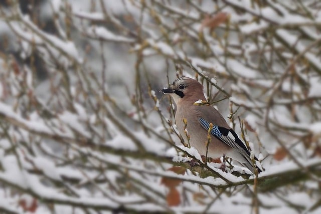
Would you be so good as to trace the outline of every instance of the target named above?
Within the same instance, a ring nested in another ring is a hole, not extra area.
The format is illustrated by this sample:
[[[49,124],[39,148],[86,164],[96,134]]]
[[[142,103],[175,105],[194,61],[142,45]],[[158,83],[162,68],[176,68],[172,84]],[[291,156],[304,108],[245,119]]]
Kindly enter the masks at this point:
[[[162,89],[161,92],[171,95],[176,104],[183,100],[191,102],[206,100],[202,84],[189,77],[176,79],[170,87]]]

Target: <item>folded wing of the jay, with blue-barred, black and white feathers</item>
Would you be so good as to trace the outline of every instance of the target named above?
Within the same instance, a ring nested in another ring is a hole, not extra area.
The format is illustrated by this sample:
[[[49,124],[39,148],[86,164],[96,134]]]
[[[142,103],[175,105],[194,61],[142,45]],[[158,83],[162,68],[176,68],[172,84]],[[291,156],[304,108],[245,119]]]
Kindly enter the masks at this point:
[[[228,126],[223,116],[212,106],[198,107],[200,108],[197,109],[197,115],[202,127],[208,130],[210,123],[212,123],[213,129],[211,130],[211,134],[238,151],[250,164],[252,164],[249,150],[237,136],[235,131]]]

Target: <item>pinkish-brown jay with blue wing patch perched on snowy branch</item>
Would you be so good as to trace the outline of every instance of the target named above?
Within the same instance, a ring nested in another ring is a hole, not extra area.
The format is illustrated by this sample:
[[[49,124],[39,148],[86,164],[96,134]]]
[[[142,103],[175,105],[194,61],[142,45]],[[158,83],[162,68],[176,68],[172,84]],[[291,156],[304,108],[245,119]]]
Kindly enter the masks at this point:
[[[223,116],[210,105],[197,105],[199,100],[206,101],[203,86],[197,80],[180,77],[173,85],[161,92],[171,95],[176,103],[175,122],[185,142],[189,142],[201,155],[219,158],[223,155],[237,160],[254,172],[262,170],[253,165],[250,151],[229,127]],[[209,130],[213,126],[212,130]],[[189,135],[189,139],[187,133]],[[211,138],[209,138],[209,133]],[[207,142],[208,148],[207,148]],[[254,157],[254,160],[257,160]]]

